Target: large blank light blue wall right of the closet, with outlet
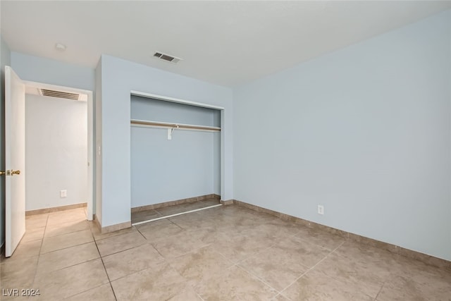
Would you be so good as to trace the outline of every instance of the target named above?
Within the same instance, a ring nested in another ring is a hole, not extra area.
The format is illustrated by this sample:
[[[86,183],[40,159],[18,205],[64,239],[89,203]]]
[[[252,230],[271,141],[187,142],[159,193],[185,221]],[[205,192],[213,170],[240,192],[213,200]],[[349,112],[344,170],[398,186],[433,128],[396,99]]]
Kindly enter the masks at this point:
[[[233,101],[235,199],[451,259],[451,11]]]

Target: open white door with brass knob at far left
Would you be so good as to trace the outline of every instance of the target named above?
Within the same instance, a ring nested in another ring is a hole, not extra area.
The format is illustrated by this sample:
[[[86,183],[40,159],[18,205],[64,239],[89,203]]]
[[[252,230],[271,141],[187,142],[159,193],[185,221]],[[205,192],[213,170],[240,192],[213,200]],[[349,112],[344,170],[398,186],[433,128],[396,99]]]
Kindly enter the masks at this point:
[[[25,85],[5,66],[5,255],[25,233]]]

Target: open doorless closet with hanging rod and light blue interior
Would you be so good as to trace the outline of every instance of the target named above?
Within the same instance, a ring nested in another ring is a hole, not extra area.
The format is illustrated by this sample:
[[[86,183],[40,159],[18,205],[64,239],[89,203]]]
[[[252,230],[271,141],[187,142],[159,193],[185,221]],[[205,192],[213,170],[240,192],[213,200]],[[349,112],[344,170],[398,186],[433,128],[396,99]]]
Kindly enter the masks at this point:
[[[132,92],[132,225],[221,206],[223,108]]]

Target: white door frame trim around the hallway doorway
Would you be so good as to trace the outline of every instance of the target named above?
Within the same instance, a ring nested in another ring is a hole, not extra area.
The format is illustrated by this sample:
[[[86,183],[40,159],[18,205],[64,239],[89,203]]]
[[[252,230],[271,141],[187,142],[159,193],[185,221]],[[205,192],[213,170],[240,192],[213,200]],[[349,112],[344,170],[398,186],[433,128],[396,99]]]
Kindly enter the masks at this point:
[[[23,83],[25,87],[87,94],[87,220],[92,221],[94,216],[94,93],[91,90],[50,85],[43,82],[23,80]],[[26,148],[27,145],[25,145]]]

